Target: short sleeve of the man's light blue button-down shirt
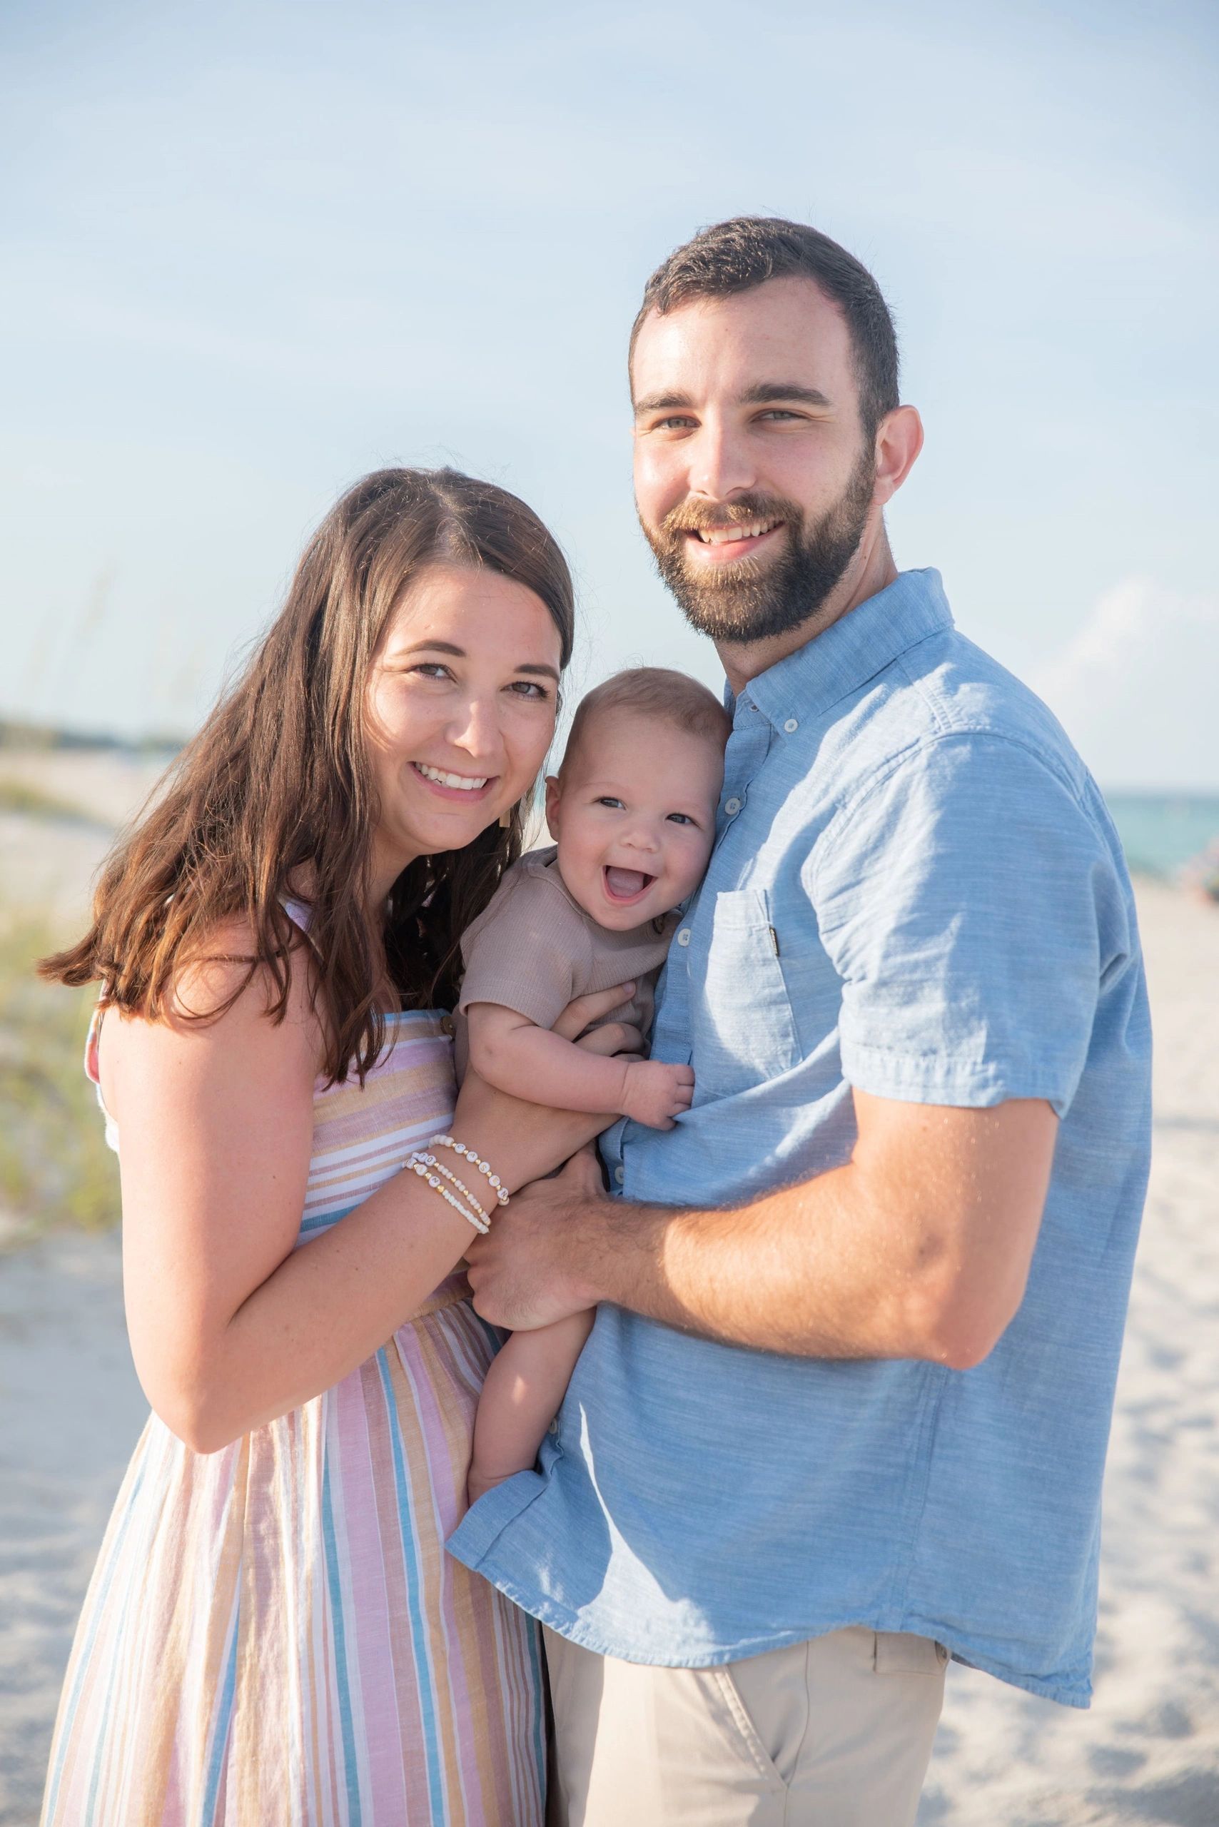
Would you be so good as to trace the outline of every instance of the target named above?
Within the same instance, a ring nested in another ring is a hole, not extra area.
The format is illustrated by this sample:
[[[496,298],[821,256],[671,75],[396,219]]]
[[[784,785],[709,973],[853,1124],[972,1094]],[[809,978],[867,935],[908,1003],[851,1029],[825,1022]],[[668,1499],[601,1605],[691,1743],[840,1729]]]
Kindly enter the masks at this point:
[[[1117,890],[1071,786],[1018,742],[956,733],[903,756],[819,848],[844,1078],[916,1104],[1045,1098],[1065,1114]]]

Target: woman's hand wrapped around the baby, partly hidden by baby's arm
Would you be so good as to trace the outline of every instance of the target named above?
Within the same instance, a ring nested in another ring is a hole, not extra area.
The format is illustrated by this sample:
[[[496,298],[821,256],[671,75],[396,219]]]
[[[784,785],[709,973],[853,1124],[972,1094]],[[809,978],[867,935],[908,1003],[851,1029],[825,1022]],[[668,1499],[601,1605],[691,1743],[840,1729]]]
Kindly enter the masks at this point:
[[[634,985],[620,983],[612,990],[596,990],[568,1003],[554,1032],[578,1041],[590,1052],[634,1052],[641,1045],[640,1030],[621,1021],[585,1034],[590,1021],[601,1019],[612,1009],[631,999]],[[583,1036],[583,1038],[579,1038]],[[453,1113],[453,1136],[479,1151],[508,1191],[528,1180],[539,1180],[561,1167],[585,1142],[592,1142],[618,1120],[616,1111],[588,1114],[587,1111],[556,1111],[545,1104],[528,1104],[506,1091],[495,1091],[473,1069],[466,1078]]]

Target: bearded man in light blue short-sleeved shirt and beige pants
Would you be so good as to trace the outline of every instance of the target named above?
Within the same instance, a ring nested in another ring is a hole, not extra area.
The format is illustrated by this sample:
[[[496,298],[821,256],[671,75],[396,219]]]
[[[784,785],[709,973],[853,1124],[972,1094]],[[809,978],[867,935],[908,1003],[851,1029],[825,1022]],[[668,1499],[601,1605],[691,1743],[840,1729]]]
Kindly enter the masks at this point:
[[[649,281],[636,499],[724,661],[718,842],[662,983],[669,1135],[514,1199],[477,1308],[592,1303],[470,1566],[546,1624],[559,1818],[914,1820],[949,1655],[1089,1697],[1148,1171],[1129,882],[1064,733],[897,574],[921,428],[872,276],[740,219]]]

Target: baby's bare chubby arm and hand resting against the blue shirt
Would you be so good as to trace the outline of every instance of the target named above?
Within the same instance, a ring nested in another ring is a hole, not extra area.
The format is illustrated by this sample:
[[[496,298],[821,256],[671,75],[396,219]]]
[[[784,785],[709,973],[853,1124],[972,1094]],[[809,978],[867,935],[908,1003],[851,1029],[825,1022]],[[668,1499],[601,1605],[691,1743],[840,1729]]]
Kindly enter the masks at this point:
[[[649,1129],[673,1129],[691,1107],[689,1065],[605,1058],[541,1029],[515,1009],[470,1003],[470,1063],[490,1085],[559,1111],[618,1111]]]

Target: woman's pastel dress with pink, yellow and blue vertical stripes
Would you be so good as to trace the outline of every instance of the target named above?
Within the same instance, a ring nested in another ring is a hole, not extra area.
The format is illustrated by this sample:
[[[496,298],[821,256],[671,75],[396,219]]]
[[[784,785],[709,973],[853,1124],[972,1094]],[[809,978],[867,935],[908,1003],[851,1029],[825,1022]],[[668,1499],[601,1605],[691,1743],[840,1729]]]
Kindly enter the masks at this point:
[[[391,1016],[364,1087],[318,1087],[300,1244],[448,1125],[448,1025]],[[468,1294],[453,1273],[342,1383],[221,1452],[150,1416],[44,1827],[539,1827],[537,1628],[444,1553],[495,1350]]]

